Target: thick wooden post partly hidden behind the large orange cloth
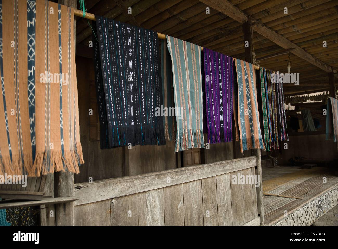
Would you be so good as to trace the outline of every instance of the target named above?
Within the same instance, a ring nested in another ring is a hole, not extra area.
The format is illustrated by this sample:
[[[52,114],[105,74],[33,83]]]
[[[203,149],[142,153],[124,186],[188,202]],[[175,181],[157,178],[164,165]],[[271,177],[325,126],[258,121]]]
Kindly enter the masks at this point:
[[[74,9],[77,8],[77,0],[58,0],[63,4]],[[76,38],[76,19],[74,18],[74,44]],[[75,49],[72,48],[72,49]],[[75,58],[74,58],[75,59]],[[54,173],[54,197],[75,196],[74,173],[57,172]],[[56,226],[74,225],[74,202],[55,205],[55,223]]]

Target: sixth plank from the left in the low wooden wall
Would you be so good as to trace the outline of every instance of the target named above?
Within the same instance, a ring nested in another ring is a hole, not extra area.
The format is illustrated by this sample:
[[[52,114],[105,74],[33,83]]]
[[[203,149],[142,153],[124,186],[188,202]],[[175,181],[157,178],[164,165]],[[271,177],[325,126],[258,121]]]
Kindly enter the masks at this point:
[[[218,225],[216,177],[208,177],[202,181],[203,224]]]

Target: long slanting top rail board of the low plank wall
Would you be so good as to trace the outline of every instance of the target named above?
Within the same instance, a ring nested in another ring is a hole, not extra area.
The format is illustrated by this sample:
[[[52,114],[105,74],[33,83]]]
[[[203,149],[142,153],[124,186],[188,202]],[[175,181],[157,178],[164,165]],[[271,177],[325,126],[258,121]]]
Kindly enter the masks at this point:
[[[75,184],[75,194],[79,198],[75,205],[113,199],[255,166],[256,157],[247,157],[137,176],[94,181],[93,183]],[[170,182],[167,181],[168,177],[170,177]]]

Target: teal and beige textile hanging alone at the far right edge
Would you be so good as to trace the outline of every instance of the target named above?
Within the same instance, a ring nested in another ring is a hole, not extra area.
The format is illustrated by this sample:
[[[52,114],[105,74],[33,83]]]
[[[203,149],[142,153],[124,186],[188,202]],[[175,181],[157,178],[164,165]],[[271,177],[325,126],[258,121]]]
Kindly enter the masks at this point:
[[[328,99],[326,108],[325,136],[326,140],[338,141],[338,100],[332,97]]]

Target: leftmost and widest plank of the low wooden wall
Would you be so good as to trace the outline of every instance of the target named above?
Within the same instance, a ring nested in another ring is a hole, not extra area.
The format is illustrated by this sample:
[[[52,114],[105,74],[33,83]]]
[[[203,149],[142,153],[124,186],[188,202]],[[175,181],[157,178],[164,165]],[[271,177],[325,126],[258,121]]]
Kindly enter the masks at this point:
[[[75,226],[110,226],[110,200],[92,202],[74,208]]]

